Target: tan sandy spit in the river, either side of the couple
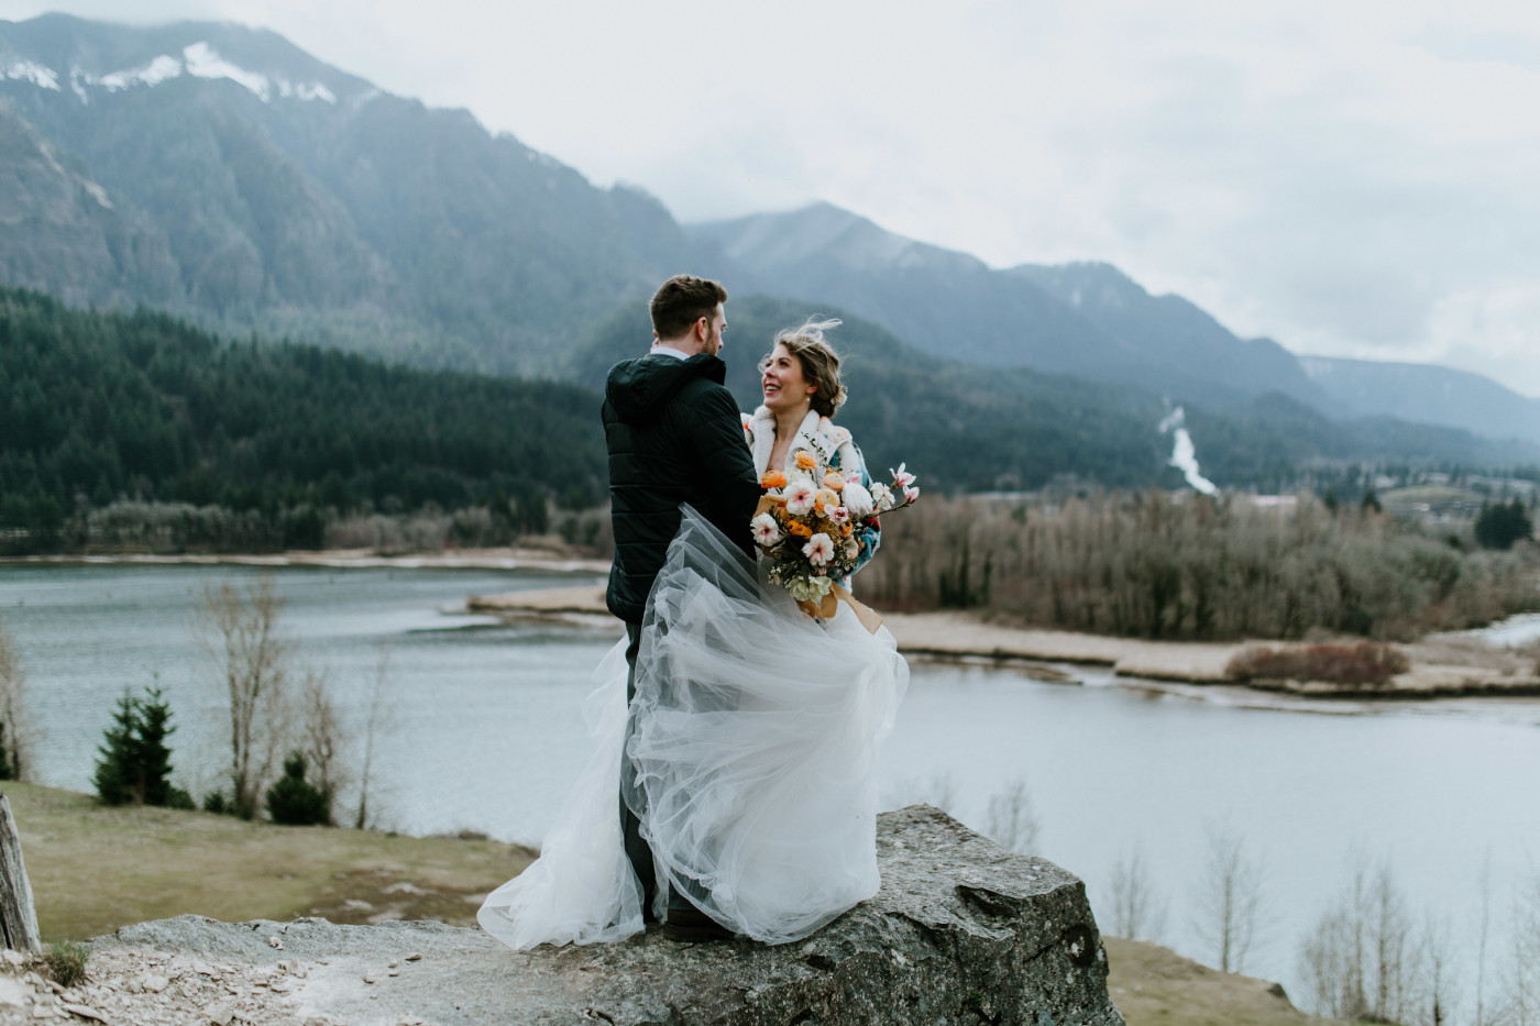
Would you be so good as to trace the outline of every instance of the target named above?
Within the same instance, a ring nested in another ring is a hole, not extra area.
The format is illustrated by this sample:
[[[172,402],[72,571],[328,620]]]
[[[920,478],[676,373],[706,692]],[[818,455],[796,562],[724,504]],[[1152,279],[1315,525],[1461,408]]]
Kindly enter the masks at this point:
[[[593,625],[610,613],[602,587],[542,588],[470,596],[473,613],[511,619],[567,619]],[[1461,636],[1440,635],[1401,645],[1412,669],[1383,687],[1340,687],[1320,681],[1237,681],[1226,673],[1235,653],[1277,641],[1144,641],[989,622],[973,613],[881,613],[899,652],[955,662],[1018,664],[1038,679],[1070,682],[1044,664],[1110,667],[1113,676],[1153,684],[1243,689],[1258,696],[1341,701],[1432,701],[1448,698],[1540,698],[1534,661]],[[1038,670],[1038,673],[1030,673]],[[1190,693],[1190,692],[1181,692]]]

